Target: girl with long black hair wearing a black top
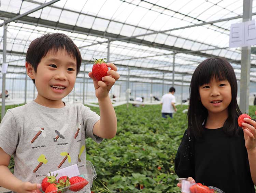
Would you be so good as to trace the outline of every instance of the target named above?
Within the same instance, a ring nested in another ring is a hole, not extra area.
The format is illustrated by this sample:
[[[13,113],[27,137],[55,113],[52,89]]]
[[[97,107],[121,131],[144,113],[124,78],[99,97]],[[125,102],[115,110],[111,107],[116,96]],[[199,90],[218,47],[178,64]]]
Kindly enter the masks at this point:
[[[196,68],[190,84],[188,129],[175,158],[175,172],[225,193],[255,193],[256,122],[244,119],[237,104],[232,66],[210,58]],[[177,184],[180,186],[180,184]]]

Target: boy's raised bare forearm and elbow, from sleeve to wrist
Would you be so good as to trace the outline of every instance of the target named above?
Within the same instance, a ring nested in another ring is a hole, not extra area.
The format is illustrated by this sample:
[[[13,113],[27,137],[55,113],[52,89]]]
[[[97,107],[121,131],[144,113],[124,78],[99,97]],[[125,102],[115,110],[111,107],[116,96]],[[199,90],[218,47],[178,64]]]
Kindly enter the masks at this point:
[[[99,99],[100,120],[96,122],[93,133],[102,138],[113,138],[116,135],[117,119],[109,97]]]

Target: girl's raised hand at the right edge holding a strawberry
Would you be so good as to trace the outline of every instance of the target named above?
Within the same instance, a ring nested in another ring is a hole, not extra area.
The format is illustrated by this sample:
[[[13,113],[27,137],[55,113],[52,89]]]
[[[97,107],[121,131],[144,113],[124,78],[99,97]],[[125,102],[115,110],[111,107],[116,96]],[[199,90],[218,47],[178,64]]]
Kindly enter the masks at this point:
[[[255,111],[256,114],[256,111]],[[256,150],[256,122],[252,119],[244,118],[247,123],[242,123],[244,131],[245,147],[247,150]],[[249,124],[248,124],[249,123]]]

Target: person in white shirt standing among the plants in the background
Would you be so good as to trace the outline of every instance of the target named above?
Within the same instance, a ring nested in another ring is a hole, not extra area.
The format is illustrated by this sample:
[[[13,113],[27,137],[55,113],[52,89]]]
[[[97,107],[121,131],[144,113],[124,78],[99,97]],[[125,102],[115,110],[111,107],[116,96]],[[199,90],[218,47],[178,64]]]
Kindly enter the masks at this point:
[[[177,111],[175,107],[175,88],[171,87],[169,89],[169,93],[166,93],[162,96],[161,104],[162,104],[162,117],[167,118],[169,115],[172,118],[172,114]]]

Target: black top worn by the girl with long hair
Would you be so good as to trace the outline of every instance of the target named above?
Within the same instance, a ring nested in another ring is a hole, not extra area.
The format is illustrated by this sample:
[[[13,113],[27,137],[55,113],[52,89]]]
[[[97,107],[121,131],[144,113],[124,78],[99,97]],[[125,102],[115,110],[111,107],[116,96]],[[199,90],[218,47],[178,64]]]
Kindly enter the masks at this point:
[[[199,140],[186,130],[175,158],[176,174],[225,193],[255,193],[243,131],[238,129],[239,136],[230,137],[223,128],[204,128]]]

